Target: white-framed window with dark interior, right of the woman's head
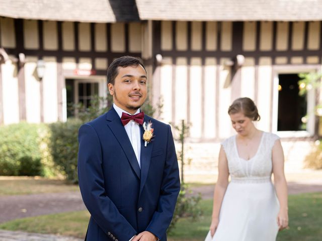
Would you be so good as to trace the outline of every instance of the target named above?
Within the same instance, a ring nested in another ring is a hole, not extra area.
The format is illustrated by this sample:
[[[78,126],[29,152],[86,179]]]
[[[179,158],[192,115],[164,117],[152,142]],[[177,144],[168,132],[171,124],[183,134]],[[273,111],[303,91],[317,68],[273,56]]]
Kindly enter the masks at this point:
[[[314,69],[275,72],[273,86],[272,131],[280,137],[309,137],[314,135],[314,89],[299,96],[299,73]],[[304,118],[303,118],[304,117]]]

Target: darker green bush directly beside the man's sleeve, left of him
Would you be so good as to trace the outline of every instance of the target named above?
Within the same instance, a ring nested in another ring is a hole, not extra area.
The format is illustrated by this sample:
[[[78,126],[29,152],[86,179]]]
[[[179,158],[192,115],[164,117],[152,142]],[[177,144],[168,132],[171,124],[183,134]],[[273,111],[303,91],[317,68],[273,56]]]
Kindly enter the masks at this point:
[[[78,129],[83,124],[79,119],[68,119],[49,125],[49,150],[52,160],[66,179],[77,182]]]

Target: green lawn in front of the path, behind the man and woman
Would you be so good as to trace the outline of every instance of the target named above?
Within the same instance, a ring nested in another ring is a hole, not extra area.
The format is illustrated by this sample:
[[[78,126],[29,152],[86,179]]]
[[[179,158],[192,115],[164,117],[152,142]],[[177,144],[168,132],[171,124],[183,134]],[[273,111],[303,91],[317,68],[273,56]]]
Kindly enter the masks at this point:
[[[203,240],[210,224],[212,200],[202,200],[204,215],[196,222],[181,219],[170,233],[170,241]],[[278,241],[321,240],[322,193],[289,196],[290,227],[279,233]],[[23,230],[39,233],[56,233],[83,238],[89,220],[87,211],[68,212],[29,217],[0,224],[0,229]]]

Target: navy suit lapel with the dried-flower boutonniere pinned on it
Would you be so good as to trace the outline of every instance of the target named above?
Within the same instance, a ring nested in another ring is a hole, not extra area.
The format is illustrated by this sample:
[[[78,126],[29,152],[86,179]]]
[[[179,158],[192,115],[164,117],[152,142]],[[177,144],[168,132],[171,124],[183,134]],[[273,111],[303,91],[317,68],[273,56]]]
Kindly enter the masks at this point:
[[[144,116],[144,122],[148,123],[150,121],[150,117],[147,115]],[[152,123],[153,128],[153,123]],[[143,140],[143,133],[144,129],[143,126],[140,126],[141,131],[141,154],[140,154],[140,161],[141,161],[141,183],[140,183],[140,194],[142,192],[142,189],[144,187],[147,173],[150,167],[150,161],[151,161],[151,153],[152,153],[152,147],[153,147],[153,141],[148,143],[146,147],[144,147],[144,140]]]

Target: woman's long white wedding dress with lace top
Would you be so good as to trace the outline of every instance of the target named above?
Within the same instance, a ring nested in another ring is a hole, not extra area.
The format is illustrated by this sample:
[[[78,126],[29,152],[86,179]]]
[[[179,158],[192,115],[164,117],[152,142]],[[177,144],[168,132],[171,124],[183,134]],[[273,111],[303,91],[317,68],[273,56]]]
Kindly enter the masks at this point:
[[[205,241],[274,241],[279,202],[271,181],[272,148],[278,136],[263,132],[256,155],[240,158],[236,136],[222,143],[231,181],[219,213],[215,235]]]

